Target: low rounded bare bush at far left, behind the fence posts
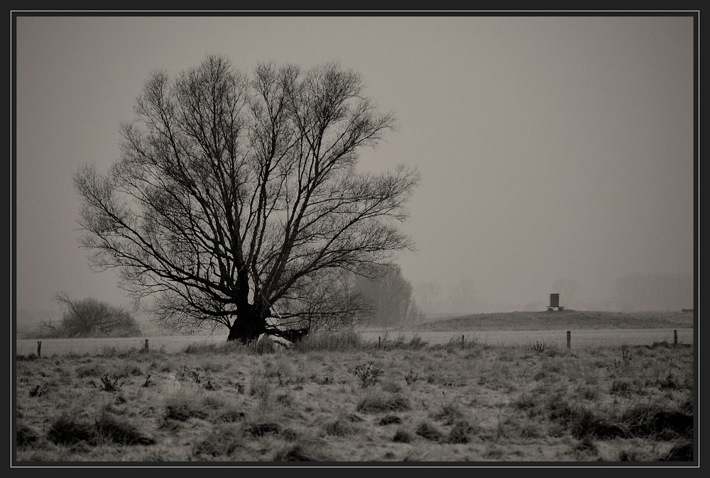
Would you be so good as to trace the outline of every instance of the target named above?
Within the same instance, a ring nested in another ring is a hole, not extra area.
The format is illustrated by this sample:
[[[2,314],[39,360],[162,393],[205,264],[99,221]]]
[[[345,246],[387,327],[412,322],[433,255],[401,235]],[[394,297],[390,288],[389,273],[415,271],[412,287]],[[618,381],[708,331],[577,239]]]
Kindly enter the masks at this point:
[[[72,299],[66,293],[55,296],[64,310],[59,325],[46,321],[40,329],[55,337],[138,337],[141,328],[131,313],[94,298]]]

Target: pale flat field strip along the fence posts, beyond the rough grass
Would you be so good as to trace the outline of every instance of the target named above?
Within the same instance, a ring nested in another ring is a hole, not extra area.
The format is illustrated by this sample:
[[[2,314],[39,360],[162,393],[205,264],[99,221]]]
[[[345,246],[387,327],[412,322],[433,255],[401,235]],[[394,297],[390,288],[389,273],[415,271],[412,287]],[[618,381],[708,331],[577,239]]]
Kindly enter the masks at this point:
[[[569,332],[569,334],[568,334]],[[361,331],[361,338],[381,344],[388,340],[409,341],[414,338],[428,345],[461,342],[488,345],[530,345],[557,348],[616,347],[622,345],[652,345],[653,343],[693,343],[693,329],[604,329],[604,330],[486,330],[486,331],[427,331],[380,330]],[[568,337],[569,335],[569,337]],[[226,342],[226,334],[212,335],[166,335],[132,338],[68,338],[68,339],[20,339],[16,340],[17,355],[65,355],[96,354],[107,348],[126,351],[131,349],[162,350],[179,352],[187,345],[219,344]]]

